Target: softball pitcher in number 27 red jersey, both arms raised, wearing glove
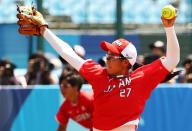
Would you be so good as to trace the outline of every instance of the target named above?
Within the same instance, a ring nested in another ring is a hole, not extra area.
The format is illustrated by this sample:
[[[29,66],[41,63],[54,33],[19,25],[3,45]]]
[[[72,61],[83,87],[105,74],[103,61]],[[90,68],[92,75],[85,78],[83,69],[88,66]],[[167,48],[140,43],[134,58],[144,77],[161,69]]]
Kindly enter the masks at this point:
[[[161,18],[167,37],[166,56],[131,73],[128,70],[135,64],[137,51],[134,44],[125,39],[100,43],[107,58],[107,67],[103,68],[93,60],[84,60],[75,54],[68,43],[48,29],[43,16],[36,10],[27,14],[20,9],[17,17],[21,34],[43,36],[92,85],[93,131],[135,131],[152,90],[180,59],[175,17]]]

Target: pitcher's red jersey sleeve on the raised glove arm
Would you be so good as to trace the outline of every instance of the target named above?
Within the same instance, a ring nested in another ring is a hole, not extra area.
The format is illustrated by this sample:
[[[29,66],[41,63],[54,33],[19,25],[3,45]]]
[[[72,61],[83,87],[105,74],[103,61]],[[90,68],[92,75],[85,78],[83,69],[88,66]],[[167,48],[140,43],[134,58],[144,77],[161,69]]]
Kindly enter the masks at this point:
[[[95,83],[105,72],[104,68],[94,62],[93,60],[87,60],[80,69],[80,74],[90,83]]]

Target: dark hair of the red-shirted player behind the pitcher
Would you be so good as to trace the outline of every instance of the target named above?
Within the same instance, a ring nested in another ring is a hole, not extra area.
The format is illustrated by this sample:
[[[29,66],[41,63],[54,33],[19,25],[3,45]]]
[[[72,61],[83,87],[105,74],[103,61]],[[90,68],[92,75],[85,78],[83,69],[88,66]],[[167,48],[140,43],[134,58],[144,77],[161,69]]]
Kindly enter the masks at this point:
[[[62,84],[63,80],[67,81],[67,83],[69,83],[71,86],[77,87],[79,91],[83,85],[83,79],[77,73],[68,72],[66,74],[62,74],[59,78],[59,84]]]

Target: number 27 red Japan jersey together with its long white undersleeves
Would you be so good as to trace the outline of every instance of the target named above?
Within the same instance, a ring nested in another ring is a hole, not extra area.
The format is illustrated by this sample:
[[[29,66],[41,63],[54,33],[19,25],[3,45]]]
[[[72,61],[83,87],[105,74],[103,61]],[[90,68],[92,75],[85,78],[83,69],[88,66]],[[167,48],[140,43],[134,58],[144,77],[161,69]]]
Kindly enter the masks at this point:
[[[151,91],[173,70],[180,60],[180,47],[174,27],[165,28],[167,51],[164,60],[157,60],[117,79],[92,60],[79,57],[68,43],[49,29],[43,36],[51,46],[92,85],[94,91],[93,127],[111,130],[136,120],[144,109]]]

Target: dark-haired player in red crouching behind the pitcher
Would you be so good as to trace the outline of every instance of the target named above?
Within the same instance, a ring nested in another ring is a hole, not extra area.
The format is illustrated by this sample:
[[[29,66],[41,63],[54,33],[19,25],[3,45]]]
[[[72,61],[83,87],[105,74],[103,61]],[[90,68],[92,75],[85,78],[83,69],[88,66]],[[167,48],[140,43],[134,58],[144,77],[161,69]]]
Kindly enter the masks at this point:
[[[59,122],[58,131],[66,131],[70,118],[92,131],[93,95],[80,91],[83,79],[77,71],[65,69],[59,79],[65,100],[56,115]]]

